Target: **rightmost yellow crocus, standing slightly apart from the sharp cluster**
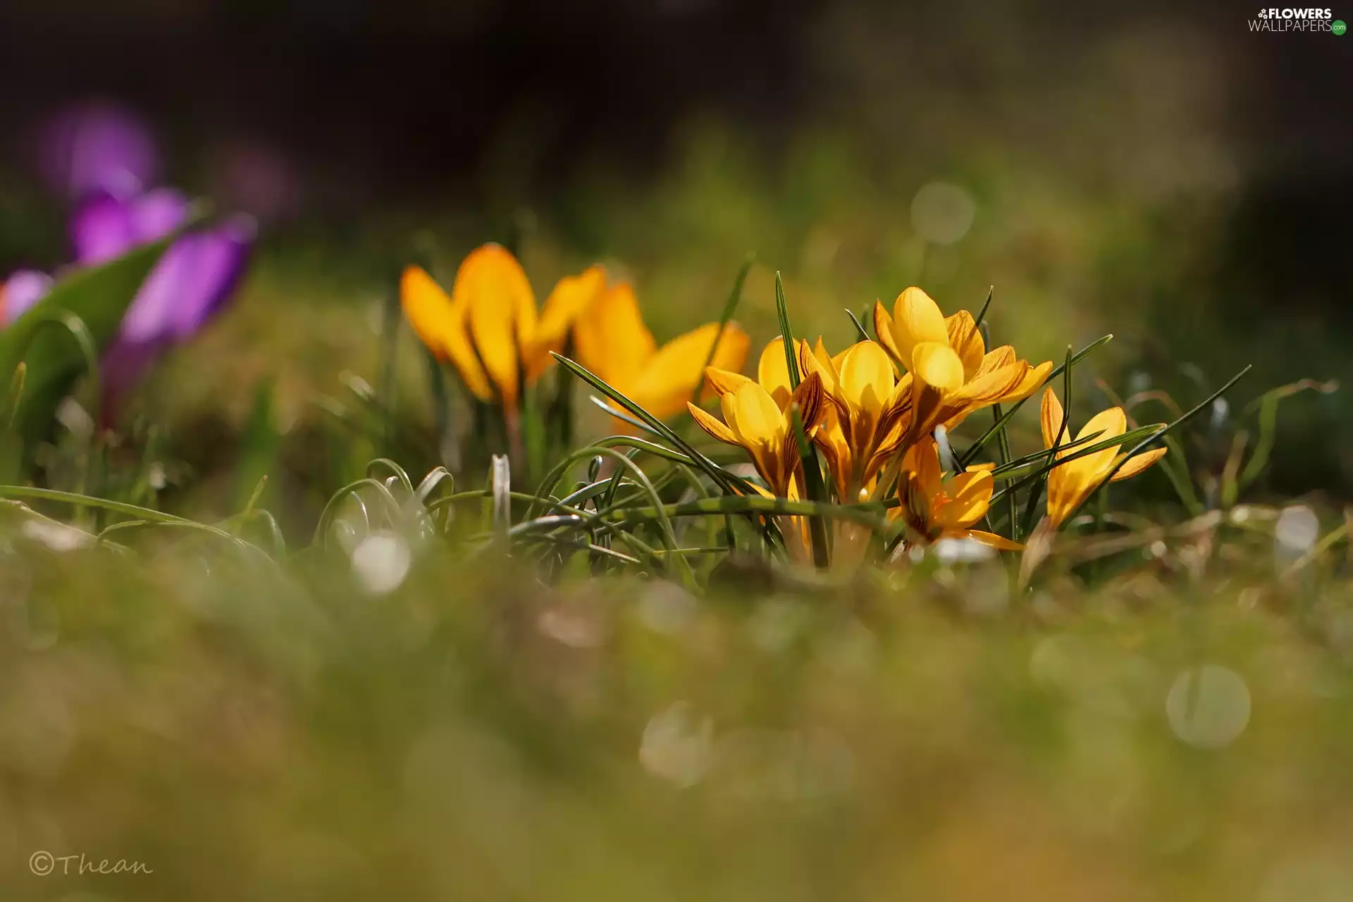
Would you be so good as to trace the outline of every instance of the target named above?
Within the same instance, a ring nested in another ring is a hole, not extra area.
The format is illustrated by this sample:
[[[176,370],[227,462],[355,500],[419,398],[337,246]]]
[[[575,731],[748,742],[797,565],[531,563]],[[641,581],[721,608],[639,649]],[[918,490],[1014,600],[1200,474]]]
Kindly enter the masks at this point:
[[[1062,418],[1065,412],[1062,411],[1062,402],[1057,399],[1057,394],[1051,387],[1043,392],[1043,404],[1039,411],[1040,425],[1043,427],[1043,446],[1057,448],[1059,444],[1059,437],[1063,431]],[[1116,438],[1127,430],[1127,415],[1123,412],[1122,407],[1109,407],[1108,410],[1095,414],[1081,431],[1076,434],[1076,441],[1082,438],[1091,438],[1092,435],[1099,435],[1097,441],[1105,438]],[[1069,430],[1066,430],[1069,431]],[[1147,452],[1126,460],[1126,453],[1119,453],[1122,445],[1112,445],[1097,450],[1093,454],[1085,454],[1084,457],[1077,457],[1076,460],[1069,460],[1065,464],[1059,464],[1047,473],[1047,518],[1053,521],[1053,526],[1059,526],[1068,517],[1072,515],[1081,503],[1091,496],[1091,494],[1100,487],[1100,484],[1109,479],[1109,473],[1114,473],[1112,480],[1116,483],[1131,476],[1137,476],[1143,469],[1158,461],[1165,456],[1168,449],[1155,448]],[[1078,449],[1065,449],[1057,452],[1057,457],[1062,458],[1068,454],[1076,453]],[[1126,460],[1126,462],[1124,462]],[[1118,472],[1114,468],[1122,467]]]

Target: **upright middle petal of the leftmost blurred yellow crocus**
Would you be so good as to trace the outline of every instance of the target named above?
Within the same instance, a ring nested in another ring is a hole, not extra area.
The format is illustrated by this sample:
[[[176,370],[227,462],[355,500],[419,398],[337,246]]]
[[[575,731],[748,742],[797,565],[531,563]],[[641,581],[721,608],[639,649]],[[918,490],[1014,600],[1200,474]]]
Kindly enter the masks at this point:
[[[464,304],[469,335],[503,404],[517,402],[520,335],[536,331],[536,298],[521,264],[499,245],[469,252],[456,272],[455,303]]]

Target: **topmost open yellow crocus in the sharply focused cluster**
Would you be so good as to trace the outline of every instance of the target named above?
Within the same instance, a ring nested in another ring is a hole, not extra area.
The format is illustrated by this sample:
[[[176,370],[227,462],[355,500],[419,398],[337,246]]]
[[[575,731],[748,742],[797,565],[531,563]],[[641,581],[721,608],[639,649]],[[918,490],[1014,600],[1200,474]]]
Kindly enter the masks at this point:
[[[913,377],[913,415],[908,444],[938,425],[957,426],[974,410],[1023,400],[1053,371],[1036,366],[1003,345],[988,352],[977,322],[966,310],[946,318],[920,288],[897,296],[893,314],[874,304],[874,330],[898,366]]]

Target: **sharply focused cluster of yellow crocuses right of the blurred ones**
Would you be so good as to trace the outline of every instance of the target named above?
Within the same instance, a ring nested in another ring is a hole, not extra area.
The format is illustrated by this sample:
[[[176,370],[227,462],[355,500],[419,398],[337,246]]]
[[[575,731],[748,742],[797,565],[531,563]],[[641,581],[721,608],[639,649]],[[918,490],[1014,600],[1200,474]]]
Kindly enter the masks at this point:
[[[793,391],[781,338],[762,352],[755,380],[710,366],[706,379],[720,395],[724,419],[694,404],[687,404],[690,414],[718,441],[747,449],[773,494],[797,499],[804,488],[790,422],[797,404],[805,437],[827,458],[838,502],[886,500],[881,492],[896,492],[893,517],[905,523],[911,544],[971,538],[1019,548],[974,529],[990,504],[992,465],[946,477],[934,433],[938,426],[957,426],[976,410],[1028,398],[1047,380],[1053,364],[1020,360],[1009,345],[986,350],[969,311],[944,316],[920,288],[904,291],[892,314],[877,303],[874,326],[877,342],[861,341],[839,354],[831,354],[821,339],[812,348],[798,341],[794,358],[802,381]],[[1065,431],[1061,410],[1049,388],[1043,399],[1047,449]],[[1092,418],[1077,440],[1112,440],[1124,431],[1126,415],[1115,407]],[[1111,446],[1066,460],[1049,473],[1047,511],[1054,525],[1111,476],[1139,473],[1165,453],[1158,449],[1124,461],[1119,450]],[[1061,450],[1054,458],[1072,453]]]

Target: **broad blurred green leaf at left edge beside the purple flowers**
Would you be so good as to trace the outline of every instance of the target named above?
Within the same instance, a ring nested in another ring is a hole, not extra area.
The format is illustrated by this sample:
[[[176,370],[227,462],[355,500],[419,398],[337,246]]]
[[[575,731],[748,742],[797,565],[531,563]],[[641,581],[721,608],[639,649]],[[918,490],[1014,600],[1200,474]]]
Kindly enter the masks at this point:
[[[47,433],[57,411],[92,350],[101,352],[118,334],[137,289],[169,246],[170,238],[138,247],[101,266],[78,269],[0,331],[0,373],[27,365],[23,396],[14,410],[12,429],[26,456]],[[78,326],[77,326],[78,323]]]

